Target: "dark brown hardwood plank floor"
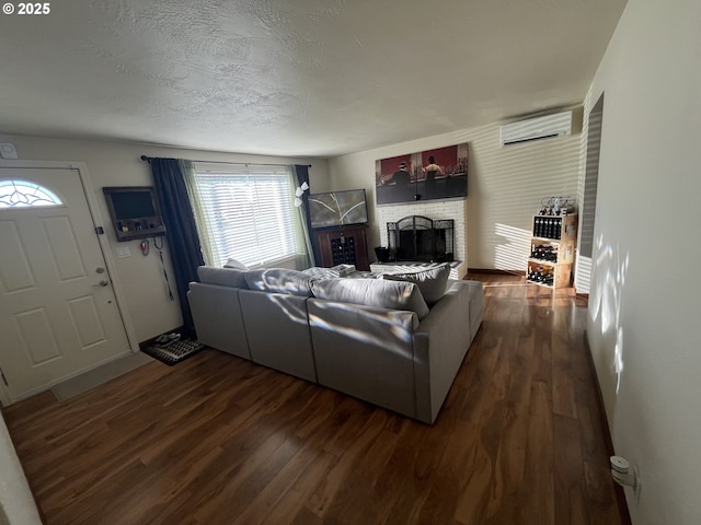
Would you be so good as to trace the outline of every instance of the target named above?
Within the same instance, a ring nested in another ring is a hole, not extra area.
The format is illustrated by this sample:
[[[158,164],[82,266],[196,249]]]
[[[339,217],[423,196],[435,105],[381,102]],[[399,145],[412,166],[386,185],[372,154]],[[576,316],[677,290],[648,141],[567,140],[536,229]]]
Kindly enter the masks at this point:
[[[8,407],[45,523],[630,523],[586,306],[470,278],[485,281],[484,323],[434,425],[215,350]]]

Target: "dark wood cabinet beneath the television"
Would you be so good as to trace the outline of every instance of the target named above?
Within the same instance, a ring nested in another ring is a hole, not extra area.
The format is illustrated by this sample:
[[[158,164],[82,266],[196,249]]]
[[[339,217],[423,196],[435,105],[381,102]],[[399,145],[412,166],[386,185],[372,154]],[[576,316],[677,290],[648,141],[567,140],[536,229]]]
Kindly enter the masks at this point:
[[[324,268],[355,265],[356,270],[369,271],[366,230],[367,226],[358,225],[314,231],[321,256],[317,264]]]

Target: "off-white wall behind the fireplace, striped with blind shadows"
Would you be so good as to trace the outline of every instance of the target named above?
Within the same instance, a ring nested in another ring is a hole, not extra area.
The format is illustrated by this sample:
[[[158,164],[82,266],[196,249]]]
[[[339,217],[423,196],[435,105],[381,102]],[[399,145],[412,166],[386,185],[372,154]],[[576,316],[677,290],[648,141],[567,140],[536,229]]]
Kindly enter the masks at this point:
[[[387,228],[378,221],[375,206],[375,161],[462,142],[470,143],[467,238],[456,244],[466,246],[470,268],[525,271],[540,199],[552,195],[576,199],[578,135],[502,148],[499,125],[493,124],[330,159],[333,189],[367,191],[371,258],[372,247],[381,245],[380,231]]]

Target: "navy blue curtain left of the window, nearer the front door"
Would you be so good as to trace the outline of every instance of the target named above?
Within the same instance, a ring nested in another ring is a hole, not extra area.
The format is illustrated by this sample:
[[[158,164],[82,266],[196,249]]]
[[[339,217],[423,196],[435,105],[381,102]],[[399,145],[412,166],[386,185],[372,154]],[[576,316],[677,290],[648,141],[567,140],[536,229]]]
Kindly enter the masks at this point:
[[[187,196],[184,173],[177,159],[150,159],[153,187],[163,213],[168,248],[175,273],[175,289],[186,336],[193,337],[195,326],[187,303],[187,289],[197,280],[197,267],[205,260],[195,225],[195,215]]]

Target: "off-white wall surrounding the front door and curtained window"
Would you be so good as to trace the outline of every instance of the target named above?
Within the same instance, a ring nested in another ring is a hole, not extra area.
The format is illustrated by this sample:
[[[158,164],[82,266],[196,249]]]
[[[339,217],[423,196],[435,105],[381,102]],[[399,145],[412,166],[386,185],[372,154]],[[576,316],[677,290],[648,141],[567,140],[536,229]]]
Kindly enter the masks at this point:
[[[139,249],[140,240],[128,243],[116,242],[114,230],[110,223],[105,198],[102,194],[103,186],[151,186],[153,179],[149,164],[140,160],[141,155],[148,155],[200,161],[312,164],[309,171],[311,186],[319,191],[327,189],[326,161],[319,159],[256,156],[134,143],[62,140],[10,135],[0,135],[0,142],[13,143],[21,160],[79,161],[87,164],[95,198],[100,206],[99,211],[102,217],[102,224],[105,226],[110,245],[113,249],[118,281],[124,289],[128,317],[134,325],[134,330],[139,341],[181,326],[180,306],[177,300],[172,302],[168,298],[163,269],[158,252],[152,246],[153,243],[151,243],[149,255],[143,257]],[[117,246],[124,245],[130,248],[131,257],[117,259],[114,250]],[[168,249],[164,250],[163,255],[168,275],[172,280],[173,269]],[[177,292],[173,284],[171,284],[171,288],[176,295]]]

